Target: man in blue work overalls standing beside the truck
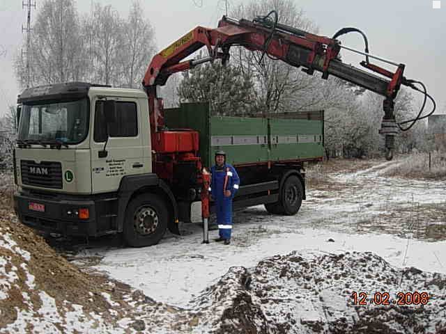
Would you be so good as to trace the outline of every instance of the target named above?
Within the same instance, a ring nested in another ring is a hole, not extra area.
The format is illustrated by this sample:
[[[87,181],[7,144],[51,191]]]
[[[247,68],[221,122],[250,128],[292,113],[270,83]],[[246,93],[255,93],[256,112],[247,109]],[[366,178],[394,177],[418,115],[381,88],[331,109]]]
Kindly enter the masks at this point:
[[[215,165],[210,168],[210,173],[210,195],[215,200],[220,235],[215,241],[224,241],[225,245],[229,245],[232,231],[232,199],[238,190],[240,178],[236,168],[226,164],[226,153],[222,150],[215,152]]]

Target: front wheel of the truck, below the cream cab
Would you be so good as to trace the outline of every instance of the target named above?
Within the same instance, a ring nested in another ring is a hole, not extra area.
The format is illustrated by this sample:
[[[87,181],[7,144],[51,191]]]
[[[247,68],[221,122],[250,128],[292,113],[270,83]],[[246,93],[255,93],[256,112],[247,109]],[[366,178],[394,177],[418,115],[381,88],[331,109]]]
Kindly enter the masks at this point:
[[[154,193],[134,198],[125,212],[124,240],[132,247],[155,245],[167,230],[169,212],[166,203]]]

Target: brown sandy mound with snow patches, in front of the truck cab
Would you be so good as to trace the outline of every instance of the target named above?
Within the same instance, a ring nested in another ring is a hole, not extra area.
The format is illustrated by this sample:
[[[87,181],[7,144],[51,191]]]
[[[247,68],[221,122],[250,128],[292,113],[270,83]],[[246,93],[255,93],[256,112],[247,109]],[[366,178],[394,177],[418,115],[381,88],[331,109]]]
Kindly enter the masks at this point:
[[[10,211],[0,217],[0,333],[123,333],[128,286],[83,273]]]

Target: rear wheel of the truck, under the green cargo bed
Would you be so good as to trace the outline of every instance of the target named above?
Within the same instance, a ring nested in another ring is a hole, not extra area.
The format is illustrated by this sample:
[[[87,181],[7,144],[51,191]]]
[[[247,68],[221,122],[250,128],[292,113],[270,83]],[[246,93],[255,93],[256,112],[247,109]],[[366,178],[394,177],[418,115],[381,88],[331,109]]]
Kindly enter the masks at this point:
[[[280,189],[278,211],[286,216],[293,216],[298,213],[302,205],[303,197],[302,183],[299,177],[290,175],[286,178],[282,189]]]

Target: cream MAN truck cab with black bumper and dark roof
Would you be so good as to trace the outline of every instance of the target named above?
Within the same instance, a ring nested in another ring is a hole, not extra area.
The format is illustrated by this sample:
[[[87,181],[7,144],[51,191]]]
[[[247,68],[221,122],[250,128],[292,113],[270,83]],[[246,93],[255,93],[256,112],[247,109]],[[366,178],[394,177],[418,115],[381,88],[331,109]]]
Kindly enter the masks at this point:
[[[121,232],[134,188],[172,196],[152,173],[143,90],[74,82],[27,89],[18,102],[15,209],[24,224],[70,235]]]

